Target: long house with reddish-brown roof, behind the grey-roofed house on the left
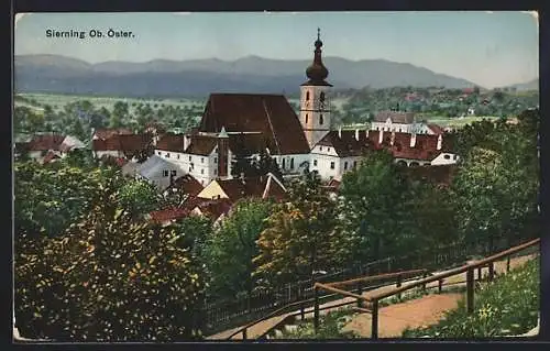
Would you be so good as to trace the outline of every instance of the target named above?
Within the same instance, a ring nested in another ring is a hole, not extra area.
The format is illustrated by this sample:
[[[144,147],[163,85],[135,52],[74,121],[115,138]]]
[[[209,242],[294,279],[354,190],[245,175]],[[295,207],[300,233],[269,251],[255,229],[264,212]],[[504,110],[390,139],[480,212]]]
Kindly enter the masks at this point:
[[[151,134],[112,134],[107,139],[94,139],[91,149],[97,158],[110,155],[132,160],[152,147],[152,142]]]

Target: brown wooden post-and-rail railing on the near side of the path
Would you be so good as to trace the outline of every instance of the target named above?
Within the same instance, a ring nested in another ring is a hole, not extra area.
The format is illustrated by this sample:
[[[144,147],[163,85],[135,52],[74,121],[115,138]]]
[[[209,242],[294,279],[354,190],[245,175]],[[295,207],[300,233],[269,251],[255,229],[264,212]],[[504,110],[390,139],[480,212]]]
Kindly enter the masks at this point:
[[[426,289],[427,284],[432,283],[432,282],[438,282],[438,288],[439,293],[441,293],[442,286],[444,285],[444,279],[454,275],[463,274],[466,273],[466,311],[469,314],[473,312],[474,310],[474,286],[475,286],[475,270],[477,270],[477,279],[481,279],[481,270],[483,267],[488,267],[488,279],[492,281],[494,277],[494,263],[495,261],[502,260],[504,257],[507,259],[507,264],[506,264],[506,270],[509,271],[510,266],[510,257],[521,251],[525,251],[527,249],[537,246],[540,243],[540,238],[535,239],[531,241],[528,241],[524,244],[517,245],[515,248],[505,250],[503,252],[499,252],[497,254],[491,255],[488,257],[485,257],[483,260],[466,264],[464,266],[460,266],[453,270],[450,270],[448,272],[443,272],[440,274],[436,274],[432,276],[425,277],[422,279],[418,279],[416,282],[413,282],[410,284],[407,284],[405,286],[398,286],[395,289],[392,289],[389,292],[382,292],[380,294],[376,294],[374,296],[370,297],[364,297],[361,294],[353,294],[351,292],[345,292],[339,288],[336,288],[334,286],[338,285],[345,285],[343,283],[346,282],[341,282],[341,283],[332,283],[332,284],[322,284],[322,283],[316,283],[314,288],[316,292],[318,290],[328,290],[332,293],[337,293],[343,296],[349,296],[353,297],[356,299],[358,307],[361,306],[363,303],[367,305],[367,308],[360,307],[362,311],[367,311],[372,314],[372,339],[377,339],[378,338],[378,309],[380,309],[380,301],[384,298],[394,296],[394,295],[400,295],[402,293],[419,287],[421,286],[424,289]],[[315,307],[314,307],[314,328],[317,332],[319,328],[319,301],[316,298],[315,301]]]

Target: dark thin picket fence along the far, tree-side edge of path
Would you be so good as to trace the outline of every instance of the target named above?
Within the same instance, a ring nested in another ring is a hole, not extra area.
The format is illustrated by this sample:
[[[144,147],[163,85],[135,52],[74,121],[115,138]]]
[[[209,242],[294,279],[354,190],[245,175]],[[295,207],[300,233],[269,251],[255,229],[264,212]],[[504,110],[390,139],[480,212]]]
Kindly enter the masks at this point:
[[[515,243],[505,240],[495,242],[493,252],[509,248],[510,244]],[[197,327],[206,334],[213,334],[222,330],[246,325],[288,304],[314,298],[315,283],[330,284],[331,282],[353,279],[365,275],[414,270],[419,266],[428,270],[449,267],[453,264],[463,263],[469,256],[486,255],[493,252],[488,252],[484,242],[471,245],[455,243],[404,256],[385,257],[354,267],[329,272],[320,277],[289,283],[271,290],[253,293],[246,298],[206,304],[200,306],[196,311],[198,316]]]

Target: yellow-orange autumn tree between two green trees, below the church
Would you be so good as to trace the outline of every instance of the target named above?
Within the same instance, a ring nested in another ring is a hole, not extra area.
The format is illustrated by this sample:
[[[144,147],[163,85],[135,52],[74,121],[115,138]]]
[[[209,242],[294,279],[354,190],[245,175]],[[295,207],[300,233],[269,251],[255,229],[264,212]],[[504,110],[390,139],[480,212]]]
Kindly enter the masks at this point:
[[[336,206],[320,185],[319,176],[306,171],[289,184],[289,201],[273,209],[253,260],[262,286],[311,277],[333,265],[333,245],[340,242]]]

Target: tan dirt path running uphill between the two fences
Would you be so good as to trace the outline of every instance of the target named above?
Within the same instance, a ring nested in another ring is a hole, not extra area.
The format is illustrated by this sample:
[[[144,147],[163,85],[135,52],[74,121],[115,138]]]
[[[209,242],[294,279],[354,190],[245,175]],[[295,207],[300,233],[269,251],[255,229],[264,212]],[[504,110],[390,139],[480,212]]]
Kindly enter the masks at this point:
[[[515,257],[510,261],[510,268],[518,267],[526,263],[527,261],[534,259],[536,255],[530,254],[526,256]],[[447,271],[441,271],[438,273],[442,273]],[[503,274],[506,272],[506,260],[495,262],[495,272],[497,274]],[[488,268],[484,268],[482,271],[482,276],[488,273]],[[460,274],[455,276],[451,276],[444,281],[444,284],[449,283],[460,283],[465,282],[466,274]],[[477,270],[475,272],[475,278],[477,279]],[[410,282],[413,283],[413,282]],[[409,283],[409,284],[410,284]],[[406,284],[404,284],[406,285]],[[458,284],[460,285],[460,284]],[[437,287],[438,283],[433,282],[428,284],[428,287]],[[388,292],[395,288],[395,285],[387,285],[380,287],[374,290],[363,293],[363,296],[369,297],[374,294],[380,294],[381,292]],[[378,337],[387,338],[387,337],[400,337],[402,332],[405,330],[407,326],[415,327],[416,323],[419,323],[418,327],[429,326],[430,323],[437,322],[441,318],[441,314],[446,310],[452,309],[457,307],[458,300],[462,297],[462,294],[435,294],[428,295],[421,298],[417,298],[410,301],[394,304],[387,307],[381,308],[381,316],[378,318]],[[342,298],[339,300],[330,301],[327,304],[320,305],[320,307],[334,306],[344,301],[353,301],[355,300],[352,297]],[[416,305],[420,304],[420,307]],[[331,309],[321,310],[320,314],[324,315],[329,312]],[[386,312],[387,311],[387,312]],[[297,311],[288,312],[285,315],[280,315],[277,317],[273,317],[266,319],[257,325],[252,326],[246,331],[249,339],[255,339],[267,330],[276,326],[285,317],[292,315]],[[307,318],[312,317],[312,312],[306,314]],[[355,322],[355,319],[358,321]],[[350,322],[350,328],[353,328],[358,333],[364,334],[365,337],[371,337],[371,315],[363,314],[355,317],[354,320]],[[386,321],[384,321],[386,320]],[[348,327],[348,326],[346,326]],[[227,339],[231,333],[239,330],[241,327],[232,328],[230,330],[226,330],[219,332],[217,334],[207,337],[207,340],[223,340]],[[232,339],[239,340],[242,339],[242,333],[234,336]]]

